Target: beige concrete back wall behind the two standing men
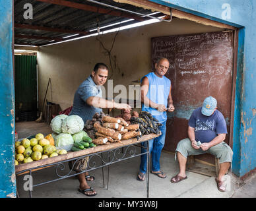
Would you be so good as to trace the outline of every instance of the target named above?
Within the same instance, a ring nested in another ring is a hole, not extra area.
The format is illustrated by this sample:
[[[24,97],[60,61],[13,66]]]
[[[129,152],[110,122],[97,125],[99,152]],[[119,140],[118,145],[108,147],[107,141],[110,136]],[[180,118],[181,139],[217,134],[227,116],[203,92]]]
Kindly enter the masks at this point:
[[[111,52],[113,69],[110,71],[109,76],[110,79],[113,79],[113,88],[117,84],[121,84],[128,90],[128,86],[132,84],[132,81],[140,80],[142,76],[149,72],[151,68],[150,39],[152,37],[218,30],[222,29],[174,18],[170,23],[158,22],[119,31]],[[110,49],[115,34],[116,32],[112,32],[99,37],[104,47]],[[111,67],[106,51],[104,51],[95,36],[73,42],[40,47],[38,51],[40,105],[44,100],[48,78],[50,77],[51,87],[48,90],[48,101],[59,104],[61,109],[71,106],[77,87],[90,75],[95,63],[98,62],[104,62],[108,67]],[[108,96],[108,88],[107,86],[105,87],[106,95]],[[114,93],[113,96],[117,94]],[[139,97],[138,95],[128,96],[126,92],[122,92],[122,96],[129,99]],[[118,114],[119,111],[115,111],[114,115]]]

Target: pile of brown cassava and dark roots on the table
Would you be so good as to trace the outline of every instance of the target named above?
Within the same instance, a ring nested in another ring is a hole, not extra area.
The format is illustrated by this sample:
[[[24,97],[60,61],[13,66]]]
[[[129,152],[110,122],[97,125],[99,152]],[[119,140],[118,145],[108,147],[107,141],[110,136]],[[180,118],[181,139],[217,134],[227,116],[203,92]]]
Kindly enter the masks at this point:
[[[86,121],[84,131],[97,145],[121,142],[129,138],[139,139],[142,135],[155,133],[160,135],[158,123],[152,115],[146,111],[122,112],[123,117],[110,117],[104,112],[95,113],[91,120]],[[126,119],[126,120],[125,120]]]

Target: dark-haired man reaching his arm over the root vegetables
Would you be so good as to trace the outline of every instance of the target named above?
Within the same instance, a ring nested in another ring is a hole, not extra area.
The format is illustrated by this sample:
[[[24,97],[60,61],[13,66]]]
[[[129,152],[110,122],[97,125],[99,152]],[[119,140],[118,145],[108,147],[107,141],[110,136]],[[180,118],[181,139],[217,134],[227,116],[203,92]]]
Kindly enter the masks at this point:
[[[131,109],[128,104],[117,104],[102,98],[102,89],[108,78],[108,67],[104,63],[94,66],[92,75],[88,76],[75,92],[73,108],[69,115],[79,115],[84,123],[92,119],[94,113],[100,113],[103,108]],[[70,169],[79,173],[84,171],[88,164],[88,157],[69,162]],[[95,196],[96,191],[89,187],[86,181],[93,181],[94,177],[86,173],[77,175],[79,179],[79,192],[86,196]]]

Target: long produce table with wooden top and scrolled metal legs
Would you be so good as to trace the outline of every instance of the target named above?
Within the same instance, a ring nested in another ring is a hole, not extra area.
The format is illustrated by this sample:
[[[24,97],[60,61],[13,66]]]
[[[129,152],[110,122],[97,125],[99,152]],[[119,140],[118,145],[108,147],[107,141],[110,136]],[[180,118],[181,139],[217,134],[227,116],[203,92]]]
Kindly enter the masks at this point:
[[[115,164],[117,162],[121,162],[123,160],[127,160],[129,158],[135,158],[137,156],[141,156],[143,154],[147,154],[147,171],[146,171],[146,197],[148,197],[149,194],[149,149],[148,149],[148,144],[146,144],[146,152],[144,153],[139,153],[136,154],[136,148],[135,146],[139,146],[141,148],[144,148],[143,146],[139,145],[142,142],[148,142],[148,140],[152,138],[156,138],[160,135],[156,134],[148,134],[148,135],[143,135],[141,138],[130,138],[127,140],[121,140],[121,142],[112,142],[110,144],[104,144],[104,145],[99,145],[93,148],[88,148],[86,150],[79,150],[77,152],[67,152],[67,154],[62,154],[53,158],[47,158],[43,160],[38,160],[34,162],[30,162],[27,164],[20,164],[18,166],[15,166],[15,173],[17,175],[22,175],[24,173],[29,173],[30,176],[32,176],[32,171],[38,171],[40,169],[44,169],[46,167],[53,167],[55,166],[55,173],[59,178],[53,179],[46,181],[44,183],[38,183],[36,185],[32,184],[32,187],[36,187],[39,185],[44,185],[46,183],[51,183],[53,181],[59,181],[60,179],[66,179],[68,177],[74,177],[75,175],[78,175],[80,173],[84,173],[87,171],[92,171],[94,169],[98,169],[100,167],[104,166],[109,166],[110,164]],[[125,151],[123,151],[124,147],[127,147]],[[122,152],[120,150],[122,148]],[[108,153],[108,160],[104,160],[102,157],[102,153],[107,152]],[[122,154],[122,156],[120,156]],[[84,157],[89,156],[88,162],[87,162],[87,167],[84,171],[81,171],[79,173],[72,173],[72,169],[69,171],[69,173],[66,173],[65,175],[59,175],[57,170],[59,169],[60,171],[63,171],[65,169],[64,163],[69,162],[71,160],[79,160]],[[113,156],[111,158],[111,156]],[[96,166],[95,162],[92,162],[92,166],[90,166],[90,160],[93,158],[100,158],[101,164],[100,166]],[[108,169],[109,171],[109,169]],[[103,173],[103,169],[102,169]],[[104,179],[103,179],[104,180]],[[30,187],[30,197],[32,197],[32,187]]]

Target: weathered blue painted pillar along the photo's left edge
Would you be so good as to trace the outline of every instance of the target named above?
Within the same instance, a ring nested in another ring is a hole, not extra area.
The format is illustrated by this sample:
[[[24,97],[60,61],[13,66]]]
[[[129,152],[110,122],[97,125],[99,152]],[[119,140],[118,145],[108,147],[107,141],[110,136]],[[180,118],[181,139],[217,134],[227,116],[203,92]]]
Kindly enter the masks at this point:
[[[0,0],[0,197],[16,196],[13,1]]]

